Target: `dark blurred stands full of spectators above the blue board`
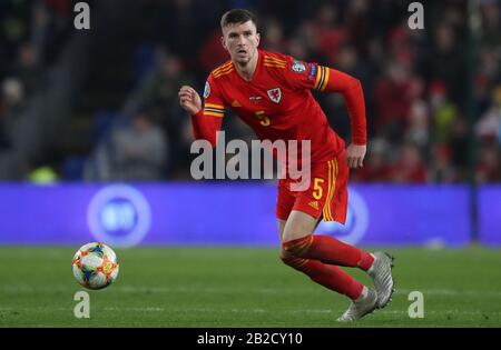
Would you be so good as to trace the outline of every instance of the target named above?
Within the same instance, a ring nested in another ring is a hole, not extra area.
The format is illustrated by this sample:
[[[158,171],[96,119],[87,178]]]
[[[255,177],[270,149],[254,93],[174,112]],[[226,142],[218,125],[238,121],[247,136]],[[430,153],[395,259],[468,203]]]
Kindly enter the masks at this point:
[[[200,93],[228,59],[220,16],[253,10],[262,48],[345,71],[362,81],[369,152],[354,181],[499,182],[500,1],[100,0],[90,30],[73,28],[76,1],[0,3],[0,179],[189,180],[183,83]],[[472,2],[473,3],[473,2]],[[477,3],[477,1],[474,1]],[[480,31],[469,17],[478,11]],[[341,96],[318,94],[350,140]],[[230,138],[254,138],[227,113]]]

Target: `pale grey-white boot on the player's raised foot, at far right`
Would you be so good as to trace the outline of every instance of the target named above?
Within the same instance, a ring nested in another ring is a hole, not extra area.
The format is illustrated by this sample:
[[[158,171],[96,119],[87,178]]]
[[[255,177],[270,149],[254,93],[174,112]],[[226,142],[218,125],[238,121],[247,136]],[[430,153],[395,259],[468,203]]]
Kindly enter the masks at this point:
[[[374,289],[377,292],[377,308],[382,309],[392,301],[393,289],[393,257],[389,253],[376,251],[372,253],[374,262],[367,270],[369,276],[374,282]]]

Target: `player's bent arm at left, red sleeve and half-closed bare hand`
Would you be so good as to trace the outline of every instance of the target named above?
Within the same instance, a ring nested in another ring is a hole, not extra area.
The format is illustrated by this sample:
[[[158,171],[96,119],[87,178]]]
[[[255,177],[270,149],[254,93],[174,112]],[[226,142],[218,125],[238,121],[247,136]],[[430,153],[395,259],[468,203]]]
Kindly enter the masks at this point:
[[[210,91],[212,77],[207,80],[204,91],[204,108],[200,96],[189,86],[179,90],[179,104],[191,116],[191,127],[196,140],[207,140],[216,147],[216,133],[220,129],[224,117],[224,103],[216,91]]]

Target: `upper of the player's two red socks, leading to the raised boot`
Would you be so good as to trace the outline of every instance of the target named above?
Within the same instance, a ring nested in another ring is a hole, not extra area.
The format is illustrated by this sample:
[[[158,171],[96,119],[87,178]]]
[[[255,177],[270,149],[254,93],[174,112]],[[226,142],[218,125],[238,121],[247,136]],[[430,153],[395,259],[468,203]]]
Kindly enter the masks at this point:
[[[283,248],[295,257],[320,260],[328,264],[357,267],[364,271],[367,271],[374,261],[369,252],[325,234],[308,234],[284,242]]]

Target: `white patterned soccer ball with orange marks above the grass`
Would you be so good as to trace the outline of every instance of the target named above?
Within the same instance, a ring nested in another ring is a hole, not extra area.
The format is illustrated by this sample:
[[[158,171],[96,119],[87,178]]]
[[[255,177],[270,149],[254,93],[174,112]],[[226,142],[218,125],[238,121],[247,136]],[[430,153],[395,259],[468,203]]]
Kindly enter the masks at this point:
[[[100,242],[87,243],[75,253],[71,264],[78,283],[88,289],[102,289],[118,276],[115,251]]]

